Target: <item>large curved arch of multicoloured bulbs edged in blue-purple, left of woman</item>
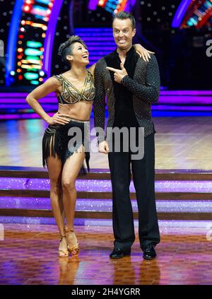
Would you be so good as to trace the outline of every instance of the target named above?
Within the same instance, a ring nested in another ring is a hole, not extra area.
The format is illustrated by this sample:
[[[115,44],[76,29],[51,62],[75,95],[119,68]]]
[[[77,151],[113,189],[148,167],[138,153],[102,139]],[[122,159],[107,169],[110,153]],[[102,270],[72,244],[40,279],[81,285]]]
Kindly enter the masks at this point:
[[[7,42],[6,86],[38,85],[50,76],[62,4],[63,0],[16,0]]]

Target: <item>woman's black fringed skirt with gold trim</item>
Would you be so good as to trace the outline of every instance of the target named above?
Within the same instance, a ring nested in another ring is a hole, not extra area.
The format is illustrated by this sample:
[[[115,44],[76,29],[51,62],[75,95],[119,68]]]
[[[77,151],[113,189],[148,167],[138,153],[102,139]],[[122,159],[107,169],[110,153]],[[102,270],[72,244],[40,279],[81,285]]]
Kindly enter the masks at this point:
[[[42,139],[42,165],[45,168],[47,158],[53,156],[61,160],[64,165],[66,159],[71,157],[83,146],[86,154],[86,166],[90,171],[90,122],[69,118],[68,124],[49,124]],[[83,165],[80,174],[86,175]]]

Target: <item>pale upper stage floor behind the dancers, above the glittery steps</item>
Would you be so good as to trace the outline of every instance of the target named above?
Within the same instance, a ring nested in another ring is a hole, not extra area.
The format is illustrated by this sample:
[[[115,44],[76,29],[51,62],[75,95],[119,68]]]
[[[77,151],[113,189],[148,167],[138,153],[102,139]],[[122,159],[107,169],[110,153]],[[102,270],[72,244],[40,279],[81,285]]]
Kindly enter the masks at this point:
[[[155,169],[212,169],[212,117],[153,117],[153,121]],[[0,165],[42,167],[46,126],[41,119],[2,121]],[[108,168],[107,156],[91,152],[90,168]]]

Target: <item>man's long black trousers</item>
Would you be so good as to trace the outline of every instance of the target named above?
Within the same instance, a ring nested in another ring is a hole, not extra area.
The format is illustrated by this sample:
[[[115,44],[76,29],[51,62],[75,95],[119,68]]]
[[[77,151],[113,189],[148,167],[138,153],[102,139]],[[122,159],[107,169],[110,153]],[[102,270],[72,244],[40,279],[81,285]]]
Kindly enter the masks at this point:
[[[144,138],[144,156],[131,160],[131,152],[108,154],[112,181],[112,221],[114,247],[122,250],[131,247],[135,240],[134,218],[129,184],[131,172],[136,189],[139,210],[139,241],[141,249],[160,242],[158,216],[155,206],[155,136]]]

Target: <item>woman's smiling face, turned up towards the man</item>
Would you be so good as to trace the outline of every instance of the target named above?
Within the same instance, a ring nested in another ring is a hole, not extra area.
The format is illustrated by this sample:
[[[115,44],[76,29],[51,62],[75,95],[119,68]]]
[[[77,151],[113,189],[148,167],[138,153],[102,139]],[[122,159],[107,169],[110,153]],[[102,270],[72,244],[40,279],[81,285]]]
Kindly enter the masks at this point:
[[[83,46],[80,42],[74,42],[72,48],[72,55],[68,55],[71,64],[83,64],[84,66],[89,64],[89,53],[88,49]]]

